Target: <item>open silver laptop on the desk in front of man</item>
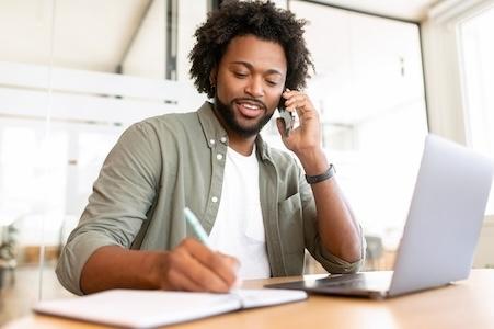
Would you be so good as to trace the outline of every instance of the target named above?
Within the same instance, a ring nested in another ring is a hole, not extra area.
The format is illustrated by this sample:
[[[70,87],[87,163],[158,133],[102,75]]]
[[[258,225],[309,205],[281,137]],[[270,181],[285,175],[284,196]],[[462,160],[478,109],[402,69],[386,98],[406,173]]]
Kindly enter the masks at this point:
[[[467,279],[493,173],[491,159],[428,135],[394,271],[329,275],[266,287],[386,298]]]

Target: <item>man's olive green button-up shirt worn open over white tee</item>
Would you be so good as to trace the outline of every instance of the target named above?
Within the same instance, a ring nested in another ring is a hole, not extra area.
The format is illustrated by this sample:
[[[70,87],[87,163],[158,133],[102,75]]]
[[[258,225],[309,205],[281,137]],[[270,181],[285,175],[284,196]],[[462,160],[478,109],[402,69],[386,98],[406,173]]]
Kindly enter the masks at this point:
[[[62,250],[61,284],[81,295],[82,268],[103,246],[173,249],[194,236],[185,206],[209,234],[221,201],[227,147],[227,133],[207,102],[197,112],[151,117],[125,131]],[[292,156],[269,148],[260,136],[256,156],[272,275],[302,274],[306,248],[330,273],[357,271],[363,260],[348,263],[322,246],[312,191]]]

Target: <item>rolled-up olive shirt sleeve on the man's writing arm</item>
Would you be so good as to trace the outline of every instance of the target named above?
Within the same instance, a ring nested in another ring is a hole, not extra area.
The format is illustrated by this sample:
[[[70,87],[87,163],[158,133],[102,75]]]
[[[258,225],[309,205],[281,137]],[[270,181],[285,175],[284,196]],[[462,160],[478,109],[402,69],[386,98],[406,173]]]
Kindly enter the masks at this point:
[[[130,126],[105,159],[78,227],[70,234],[56,273],[82,295],[80,276],[89,257],[103,246],[129,248],[156,197],[161,152],[153,127]]]

